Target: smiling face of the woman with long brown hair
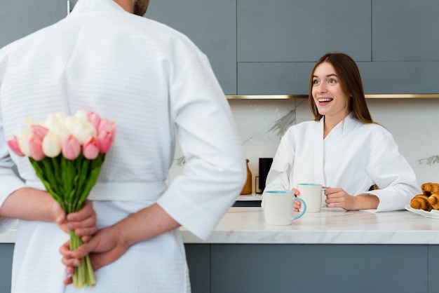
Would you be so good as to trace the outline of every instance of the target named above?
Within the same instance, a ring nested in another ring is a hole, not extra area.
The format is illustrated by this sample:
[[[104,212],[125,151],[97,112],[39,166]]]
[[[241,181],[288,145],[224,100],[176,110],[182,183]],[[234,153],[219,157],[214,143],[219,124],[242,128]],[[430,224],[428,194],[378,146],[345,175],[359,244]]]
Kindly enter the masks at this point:
[[[320,115],[337,117],[341,121],[348,114],[349,96],[344,93],[332,64],[323,62],[316,67],[312,94]]]

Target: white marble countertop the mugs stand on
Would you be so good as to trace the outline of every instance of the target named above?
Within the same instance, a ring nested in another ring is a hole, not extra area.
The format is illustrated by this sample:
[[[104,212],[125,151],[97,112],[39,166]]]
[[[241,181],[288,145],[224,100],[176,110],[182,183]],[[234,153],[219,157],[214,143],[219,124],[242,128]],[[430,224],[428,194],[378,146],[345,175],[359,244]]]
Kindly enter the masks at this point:
[[[406,210],[373,213],[322,208],[289,226],[270,226],[261,207],[231,207],[206,241],[187,229],[181,231],[184,243],[439,244],[439,219]],[[16,226],[1,233],[0,243],[14,243],[15,233]]]

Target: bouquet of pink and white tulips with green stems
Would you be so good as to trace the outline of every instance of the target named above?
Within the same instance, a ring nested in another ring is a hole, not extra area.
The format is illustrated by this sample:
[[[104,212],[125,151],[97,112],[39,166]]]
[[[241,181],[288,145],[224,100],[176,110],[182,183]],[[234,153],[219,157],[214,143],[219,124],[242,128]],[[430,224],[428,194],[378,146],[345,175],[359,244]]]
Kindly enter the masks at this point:
[[[97,181],[105,154],[112,147],[116,124],[96,113],[78,111],[74,116],[64,112],[48,116],[38,123],[25,119],[25,130],[8,140],[18,156],[27,156],[36,175],[51,196],[69,214],[81,210]],[[69,231],[70,249],[82,244],[81,238]],[[73,275],[75,287],[96,284],[89,257]]]

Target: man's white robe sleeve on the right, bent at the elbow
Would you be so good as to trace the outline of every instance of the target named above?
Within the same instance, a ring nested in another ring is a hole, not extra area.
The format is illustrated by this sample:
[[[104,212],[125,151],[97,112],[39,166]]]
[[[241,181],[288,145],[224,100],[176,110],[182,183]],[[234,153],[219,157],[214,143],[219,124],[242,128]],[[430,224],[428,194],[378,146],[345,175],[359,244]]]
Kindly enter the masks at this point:
[[[206,239],[243,188],[245,157],[207,57],[193,54],[170,70],[170,111],[185,164],[157,203],[195,236]]]

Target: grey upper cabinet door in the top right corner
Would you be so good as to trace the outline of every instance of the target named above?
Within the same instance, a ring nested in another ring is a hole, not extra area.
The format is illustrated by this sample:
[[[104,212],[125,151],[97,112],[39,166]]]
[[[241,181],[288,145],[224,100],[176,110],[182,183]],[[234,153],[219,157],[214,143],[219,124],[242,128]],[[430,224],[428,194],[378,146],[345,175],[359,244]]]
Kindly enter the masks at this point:
[[[438,61],[438,0],[373,0],[373,61]]]

